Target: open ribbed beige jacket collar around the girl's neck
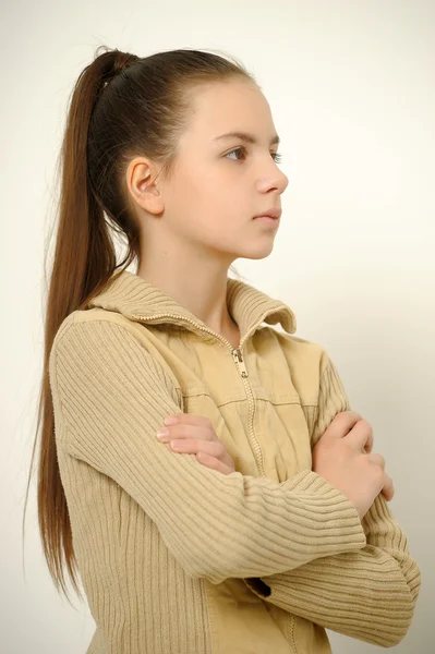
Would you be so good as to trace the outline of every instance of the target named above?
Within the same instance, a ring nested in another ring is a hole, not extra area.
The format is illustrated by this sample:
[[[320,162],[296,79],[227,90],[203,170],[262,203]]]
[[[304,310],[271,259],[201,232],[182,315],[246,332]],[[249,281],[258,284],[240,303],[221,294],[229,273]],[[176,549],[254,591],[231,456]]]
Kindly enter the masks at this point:
[[[241,344],[258,329],[263,322],[269,325],[280,323],[288,334],[294,334],[297,318],[292,310],[279,300],[238,279],[228,278],[228,308],[239,326]],[[152,323],[171,323],[203,338],[218,336],[205,323],[184,306],[166,295],[149,281],[130,272],[117,271],[104,290],[92,298],[85,308],[98,306],[114,311],[131,320]]]

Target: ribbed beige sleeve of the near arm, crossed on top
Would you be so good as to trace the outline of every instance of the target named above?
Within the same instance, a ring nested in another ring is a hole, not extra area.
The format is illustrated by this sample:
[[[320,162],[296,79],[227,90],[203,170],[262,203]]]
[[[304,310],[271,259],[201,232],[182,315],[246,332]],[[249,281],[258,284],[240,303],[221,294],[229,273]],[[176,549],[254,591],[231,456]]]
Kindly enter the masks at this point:
[[[280,484],[223,475],[159,443],[181,396],[134,326],[68,320],[49,372],[62,448],[146,511],[188,574],[212,583],[274,574],[365,545],[354,506],[310,470]]]

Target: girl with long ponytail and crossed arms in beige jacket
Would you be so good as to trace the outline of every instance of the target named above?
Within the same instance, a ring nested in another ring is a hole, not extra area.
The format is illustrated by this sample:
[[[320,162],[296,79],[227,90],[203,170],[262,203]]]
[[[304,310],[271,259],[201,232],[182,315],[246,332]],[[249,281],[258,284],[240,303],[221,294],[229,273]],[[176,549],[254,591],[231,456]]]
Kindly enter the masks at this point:
[[[273,250],[278,142],[215,53],[105,51],[74,88],[38,510],[57,588],[83,581],[87,654],[326,654],[325,629],[387,647],[412,621],[371,425],[291,308],[228,277]]]

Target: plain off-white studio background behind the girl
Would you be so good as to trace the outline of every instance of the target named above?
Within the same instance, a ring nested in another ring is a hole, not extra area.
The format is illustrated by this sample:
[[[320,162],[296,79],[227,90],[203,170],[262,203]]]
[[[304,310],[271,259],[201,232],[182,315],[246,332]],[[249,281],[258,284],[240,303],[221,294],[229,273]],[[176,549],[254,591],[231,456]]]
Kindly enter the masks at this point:
[[[327,349],[373,425],[396,484],[391,510],[423,573],[395,651],[434,652],[434,2],[15,0],[0,24],[1,654],[80,654],[94,631],[87,606],[60,598],[45,567],[35,477],[25,578],[21,523],[55,165],[69,95],[99,45],[226,50],[263,86],[290,183],[274,252],[235,267],[294,310],[297,336]],[[329,634],[335,654],[384,651]]]

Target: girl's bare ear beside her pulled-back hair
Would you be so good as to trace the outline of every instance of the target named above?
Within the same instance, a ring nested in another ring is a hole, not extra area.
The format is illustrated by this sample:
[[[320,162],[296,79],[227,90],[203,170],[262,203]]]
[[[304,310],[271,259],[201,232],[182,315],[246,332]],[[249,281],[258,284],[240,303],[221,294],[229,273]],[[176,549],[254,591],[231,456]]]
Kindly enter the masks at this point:
[[[161,214],[164,198],[156,185],[157,167],[146,157],[135,157],[126,169],[125,182],[133,201],[149,214]]]

